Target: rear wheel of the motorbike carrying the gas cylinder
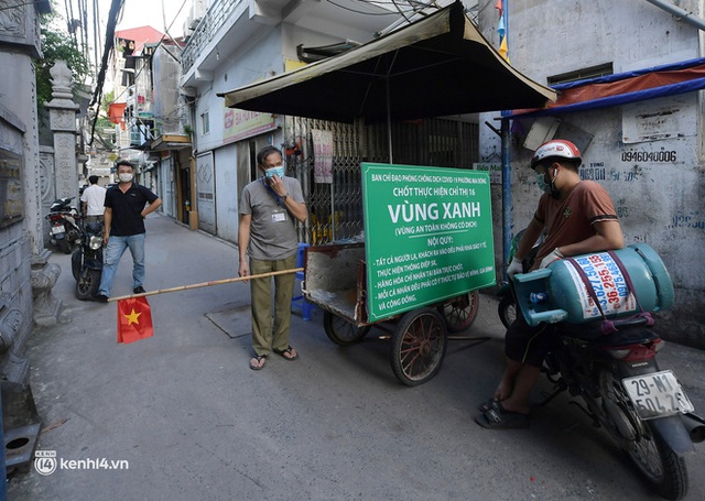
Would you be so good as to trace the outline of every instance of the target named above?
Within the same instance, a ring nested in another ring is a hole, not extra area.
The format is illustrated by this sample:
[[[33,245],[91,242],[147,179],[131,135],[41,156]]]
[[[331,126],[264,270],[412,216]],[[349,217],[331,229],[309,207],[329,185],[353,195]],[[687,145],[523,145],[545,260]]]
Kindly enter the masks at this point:
[[[605,406],[614,405],[611,411],[606,409],[614,425],[610,434],[629,455],[653,491],[664,499],[684,498],[688,488],[685,459],[674,453],[652,426],[639,418],[621,388],[619,375],[608,370],[603,371],[600,392]],[[615,420],[616,410],[622,420]]]

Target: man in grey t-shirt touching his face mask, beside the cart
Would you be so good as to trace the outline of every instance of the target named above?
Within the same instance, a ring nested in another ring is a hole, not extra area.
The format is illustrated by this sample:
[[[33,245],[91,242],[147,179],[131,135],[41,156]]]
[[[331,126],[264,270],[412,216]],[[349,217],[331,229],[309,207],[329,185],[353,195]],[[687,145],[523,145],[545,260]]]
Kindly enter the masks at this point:
[[[294,269],[299,249],[296,221],[305,221],[308,215],[301,184],[296,178],[284,175],[280,150],[274,146],[263,148],[257,154],[257,164],[262,176],[248,184],[240,195],[240,276]],[[250,360],[252,370],[262,369],[271,351],[285,360],[299,357],[296,350],[289,345],[295,275],[285,273],[274,276],[273,281],[273,322],[272,279],[250,281],[254,350],[254,357]]]

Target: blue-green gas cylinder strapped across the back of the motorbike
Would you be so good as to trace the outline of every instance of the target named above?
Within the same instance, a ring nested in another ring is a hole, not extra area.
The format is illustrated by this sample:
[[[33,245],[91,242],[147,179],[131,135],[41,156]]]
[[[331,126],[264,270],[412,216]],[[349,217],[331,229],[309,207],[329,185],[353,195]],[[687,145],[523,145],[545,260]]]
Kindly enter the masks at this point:
[[[576,255],[574,262],[562,259],[547,268],[514,275],[517,303],[527,323],[530,326],[542,322],[585,324],[603,318],[576,266],[589,281],[607,318],[673,306],[673,282],[650,246],[634,243],[612,252],[621,261],[633,290],[627,285],[617,261],[608,252]]]

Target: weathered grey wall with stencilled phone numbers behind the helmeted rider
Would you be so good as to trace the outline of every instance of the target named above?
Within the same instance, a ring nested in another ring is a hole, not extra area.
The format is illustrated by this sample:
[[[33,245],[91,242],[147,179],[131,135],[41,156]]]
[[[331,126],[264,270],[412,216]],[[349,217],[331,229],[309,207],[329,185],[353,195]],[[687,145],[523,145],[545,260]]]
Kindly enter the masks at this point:
[[[680,7],[703,15],[702,1]],[[510,2],[509,56],[531,78],[612,63],[614,73],[701,57],[698,32],[641,0]],[[496,25],[486,15],[484,25]],[[496,41],[492,28],[486,35]],[[587,50],[589,47],[589,50]],[[705,348],[704,161],[702,92],[558,116],[555,137],[585,141],[583,178],[610,193],[627,243],[647,242],[663,259],[676,290],[672,312],[659,315],[662,334]],[[514,121],[511,149],[514,232],[531,219],[540,195],[522,148],[533,120]],[[592,137],[592,139],[590,139]],[[498,139],[484,131],[481,155]],[[496,210],[501,209],[501,199]]]

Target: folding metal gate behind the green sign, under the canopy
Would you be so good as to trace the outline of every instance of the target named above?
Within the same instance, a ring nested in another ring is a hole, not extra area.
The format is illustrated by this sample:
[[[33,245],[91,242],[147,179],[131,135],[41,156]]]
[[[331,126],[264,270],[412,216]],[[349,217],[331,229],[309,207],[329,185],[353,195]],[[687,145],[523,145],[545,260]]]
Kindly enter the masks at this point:
[[[301,182],[308,219],[299,238],[312,244],[364,236],[361,162],[389,162],[387,124],[286,117],[289,175]],[[333,132],[333,183],[314,182],[314,129]],[[477,123],[424,119],[392,123],[394,164],[470,168],[479,160]]]

